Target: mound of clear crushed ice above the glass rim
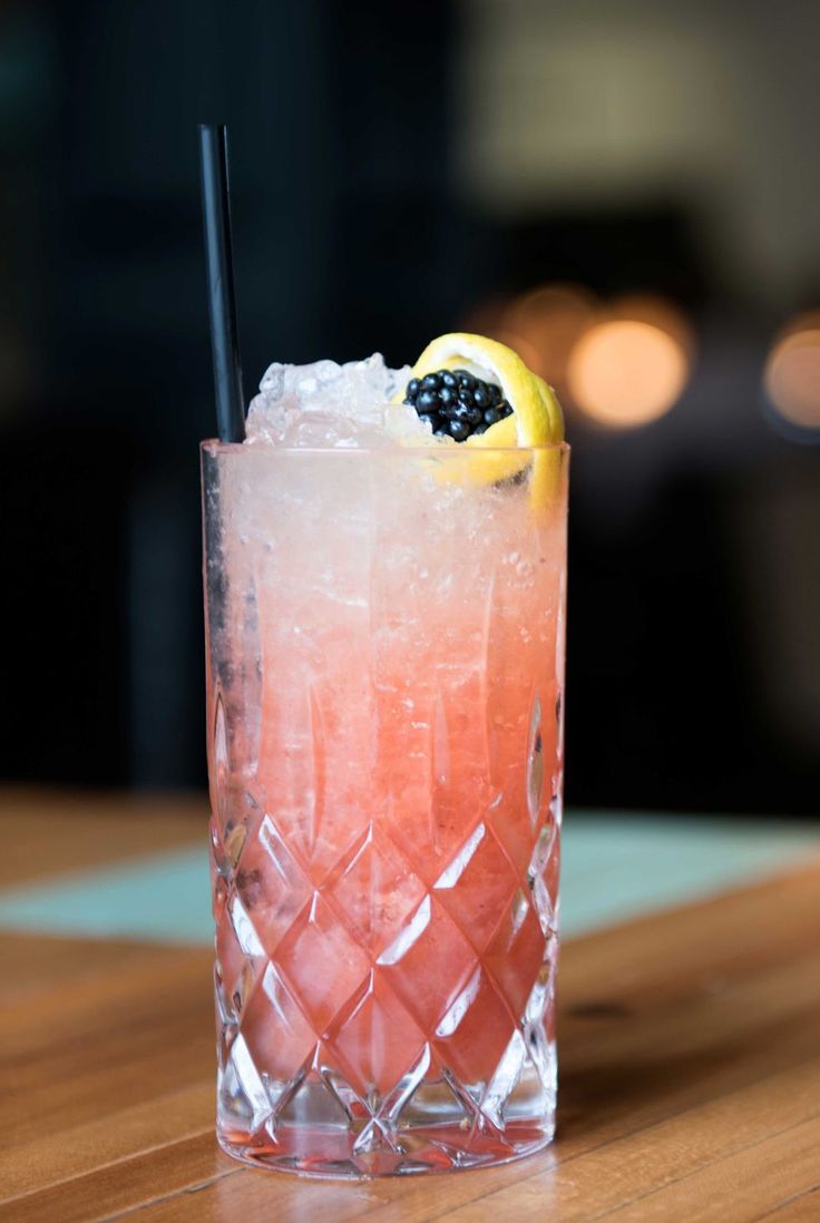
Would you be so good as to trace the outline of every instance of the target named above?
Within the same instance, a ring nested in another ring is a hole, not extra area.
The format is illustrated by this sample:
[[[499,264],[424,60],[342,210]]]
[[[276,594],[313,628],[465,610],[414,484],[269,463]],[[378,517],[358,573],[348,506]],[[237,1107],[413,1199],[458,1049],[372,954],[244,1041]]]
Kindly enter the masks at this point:
[[[381,353],[365,361],[270,366],[251,400],[247,442],[280,446],[384,446],[452,443],[433,438],[415,408],[390,400],[410,367],[389,369]]]

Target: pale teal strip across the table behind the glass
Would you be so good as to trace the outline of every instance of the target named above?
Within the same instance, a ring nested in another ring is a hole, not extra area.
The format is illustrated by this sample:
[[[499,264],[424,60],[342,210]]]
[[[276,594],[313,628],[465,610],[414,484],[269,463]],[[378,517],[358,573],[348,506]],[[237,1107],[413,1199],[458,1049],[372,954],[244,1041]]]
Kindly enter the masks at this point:
[[[820,856],[820,826],[623,812],[564,819],[562,928],[574,936],[703,899]],[[212,940],[207,846],[0,889],[0,929]]]

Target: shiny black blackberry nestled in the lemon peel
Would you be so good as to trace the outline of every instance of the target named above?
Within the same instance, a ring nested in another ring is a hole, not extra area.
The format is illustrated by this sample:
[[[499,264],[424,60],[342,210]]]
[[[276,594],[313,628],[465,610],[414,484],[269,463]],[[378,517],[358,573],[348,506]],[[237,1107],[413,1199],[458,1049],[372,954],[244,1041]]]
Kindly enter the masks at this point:
[[[513,412],[501,386],[468,369],[434,369],[423,378],[411,378],[404,395],[404,402],[415,407],[433,433],[455,442],[486,433]]]

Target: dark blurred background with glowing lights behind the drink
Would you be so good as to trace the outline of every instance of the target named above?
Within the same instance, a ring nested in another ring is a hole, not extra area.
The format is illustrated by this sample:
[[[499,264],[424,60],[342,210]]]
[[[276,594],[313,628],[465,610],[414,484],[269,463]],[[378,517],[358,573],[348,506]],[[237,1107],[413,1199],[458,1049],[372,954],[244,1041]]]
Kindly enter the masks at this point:
[[[568,800],[820,793],[815,0],[0,5],[0,775],[204,783],[196,124],[246,395],[475,329],[573,443]]]

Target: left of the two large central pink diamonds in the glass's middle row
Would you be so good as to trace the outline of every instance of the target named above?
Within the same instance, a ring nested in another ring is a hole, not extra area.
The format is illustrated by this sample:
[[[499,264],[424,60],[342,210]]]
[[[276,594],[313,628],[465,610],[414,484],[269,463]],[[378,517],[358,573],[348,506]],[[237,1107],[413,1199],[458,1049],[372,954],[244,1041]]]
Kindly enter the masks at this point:
[[[370,956],[315,892],[277,947],[275,964],[321,1033],[363,980]]]

